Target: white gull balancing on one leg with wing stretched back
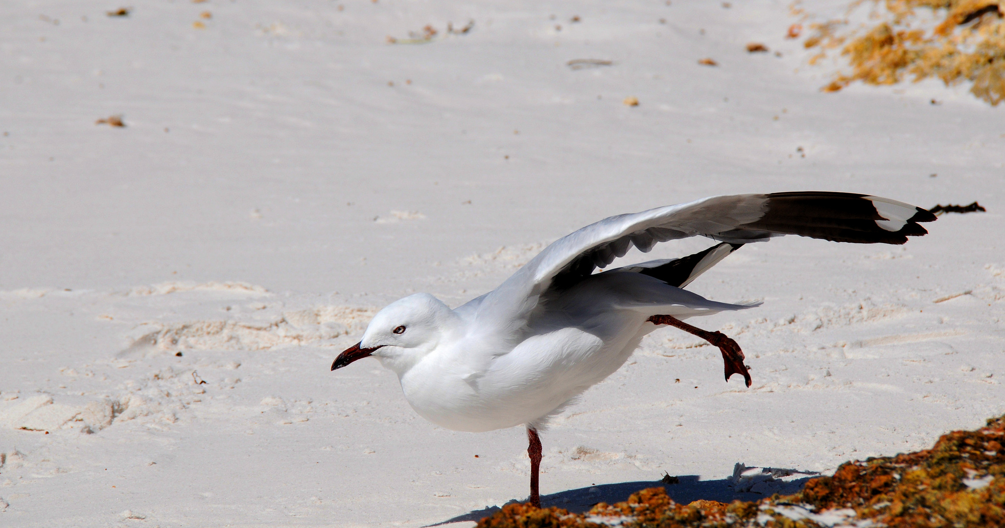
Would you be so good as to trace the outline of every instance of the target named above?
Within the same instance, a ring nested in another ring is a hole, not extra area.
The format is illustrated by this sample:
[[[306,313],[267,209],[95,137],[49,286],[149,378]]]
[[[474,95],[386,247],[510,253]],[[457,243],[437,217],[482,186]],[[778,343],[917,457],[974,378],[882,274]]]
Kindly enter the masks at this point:
[[[683,289],[744,244],[783,235],[834,242],[903,244],[928,234],[922,208],[869,195],[794,192],[717,196],[618,215],[555,241],[494,290],[450,309],[427,293],[380,310],[332,370],[374,356],[398,374],[405,400],[440,427],[484,432],[527,428],[528,502],[541,506],[538,434],[587,388],[621,367],[644,335],[673,326],[719,347],[726,380],[751,385],[735,340],[683,319],[728,304]],[[703,236],[719,243],[682,258],[596,272],[634,246]]]

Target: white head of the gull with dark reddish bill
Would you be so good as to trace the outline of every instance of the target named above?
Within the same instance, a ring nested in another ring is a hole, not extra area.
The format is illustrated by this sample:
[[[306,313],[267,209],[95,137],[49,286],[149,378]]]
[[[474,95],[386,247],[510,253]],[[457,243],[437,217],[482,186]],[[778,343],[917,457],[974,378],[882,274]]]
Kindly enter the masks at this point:
[[[399,375],[436,348],[440,337],[456,326],[456,315],[428,293],[416,293],[377,312],[363,339],[339,354],[332,370],[367,356]]]

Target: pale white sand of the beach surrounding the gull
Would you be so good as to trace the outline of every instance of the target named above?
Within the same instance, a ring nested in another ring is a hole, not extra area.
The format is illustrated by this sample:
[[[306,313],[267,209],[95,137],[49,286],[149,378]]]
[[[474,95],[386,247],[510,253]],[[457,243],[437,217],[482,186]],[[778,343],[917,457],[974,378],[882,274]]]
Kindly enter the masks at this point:
[[[456,305],[573,229],[716,194],[989,212],[903,247],[743,248],[691,289],[765,300],[700,321],[754,386],[654,333],[543,435],[544,494],[828,471],[1005,412],[1002,108],[821,93],[785,2],[86,4],[0,4],[3,526],[421,526],[524,498],[522,429],[442,430],[376,360],[332,359],[399,296]]]

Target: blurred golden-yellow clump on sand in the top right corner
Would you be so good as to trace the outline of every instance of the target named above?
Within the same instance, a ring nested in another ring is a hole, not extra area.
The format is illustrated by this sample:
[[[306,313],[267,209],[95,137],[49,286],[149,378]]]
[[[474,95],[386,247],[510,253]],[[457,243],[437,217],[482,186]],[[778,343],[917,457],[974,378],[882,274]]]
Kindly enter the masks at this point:
[[[852,3],[852,9],[863,0]],[[811,26],[815,32],[804,45],[841,47],[850,73],[839,74],[823,87],[837,91],[856,80],[893,84],[906,76],[914,81],[941,78],[947,85],[973,81],[971,92],[992,105],[1005,100],[1005,0],[873,0],[878,23],[839,34],[846,24],[831,21]],[[928,24],[932,15],[942,21]],[[843,47],[842,47],[843,46]]]

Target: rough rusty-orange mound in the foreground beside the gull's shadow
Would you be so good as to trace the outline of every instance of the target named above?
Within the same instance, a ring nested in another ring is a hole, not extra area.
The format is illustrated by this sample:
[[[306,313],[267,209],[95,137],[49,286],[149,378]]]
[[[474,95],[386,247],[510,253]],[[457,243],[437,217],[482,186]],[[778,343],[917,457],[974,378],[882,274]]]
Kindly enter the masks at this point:
[[[663,488],[600,503],[585,514],[512,504],[477,528],[697,528],[1005,526],[1005,416],[977,431],[944,435],[935,447],[847,462],[800,493],[758,502],[674,503]]]

